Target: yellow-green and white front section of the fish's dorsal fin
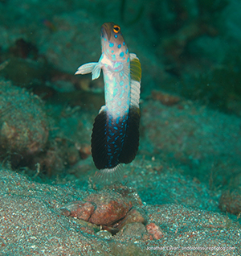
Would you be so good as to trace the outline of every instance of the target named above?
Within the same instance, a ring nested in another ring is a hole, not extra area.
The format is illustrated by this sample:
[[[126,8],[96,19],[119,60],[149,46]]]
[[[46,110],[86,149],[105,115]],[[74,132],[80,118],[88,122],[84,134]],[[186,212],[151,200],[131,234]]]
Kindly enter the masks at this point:
[[[141,63],[134,53],[130,54],[130,75],[131,75],[131,105],[139,108],[141,88]]]

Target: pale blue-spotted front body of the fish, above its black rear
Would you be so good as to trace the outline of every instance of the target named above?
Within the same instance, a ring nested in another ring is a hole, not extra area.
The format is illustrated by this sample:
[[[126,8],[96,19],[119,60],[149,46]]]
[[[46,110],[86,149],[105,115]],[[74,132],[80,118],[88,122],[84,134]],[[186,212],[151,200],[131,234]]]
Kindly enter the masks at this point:
[[[130,58],[125,41],[109,43],[100,37],[102,56],[100,63],[104,74],[105,105],[112,118],[124,117],[130,105]]]

